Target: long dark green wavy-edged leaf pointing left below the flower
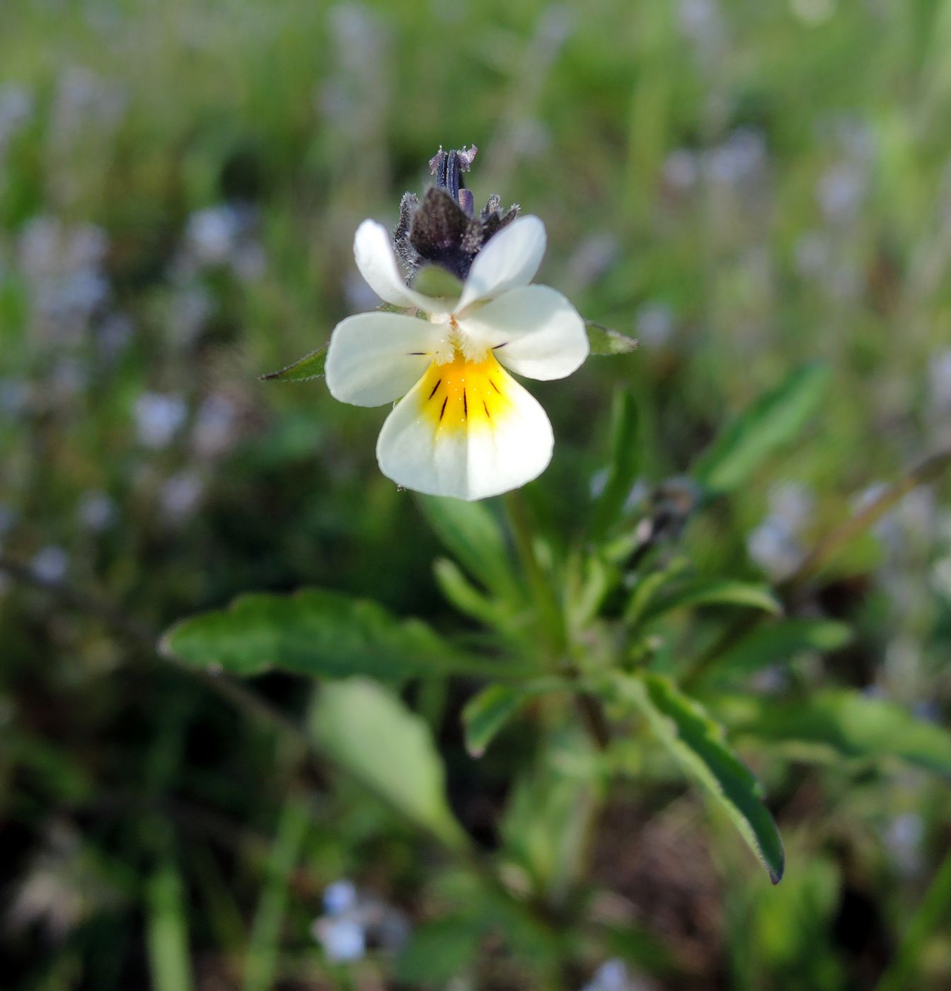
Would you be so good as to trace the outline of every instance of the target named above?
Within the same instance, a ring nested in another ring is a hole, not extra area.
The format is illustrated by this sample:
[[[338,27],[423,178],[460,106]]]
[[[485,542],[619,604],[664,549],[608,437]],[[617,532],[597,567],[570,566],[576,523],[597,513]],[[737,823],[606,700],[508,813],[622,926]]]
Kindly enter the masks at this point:
[[[272,668],[325,678],[505,676],[498,663],[463,654],[418,619],[396,619],[376,603],[321,589],[242,596],[176,623],[160,649],[184,664],[241,677]]]

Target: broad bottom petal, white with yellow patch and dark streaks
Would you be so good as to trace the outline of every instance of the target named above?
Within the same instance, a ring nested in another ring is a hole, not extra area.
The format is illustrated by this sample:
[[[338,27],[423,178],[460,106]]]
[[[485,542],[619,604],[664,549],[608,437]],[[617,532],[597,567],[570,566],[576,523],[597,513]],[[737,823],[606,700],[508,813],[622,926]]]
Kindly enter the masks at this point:
[[[489,356],[431,366],[386,418],[376,458],[407,489],[477,499],[541,475],[553,443],[538,400]]]

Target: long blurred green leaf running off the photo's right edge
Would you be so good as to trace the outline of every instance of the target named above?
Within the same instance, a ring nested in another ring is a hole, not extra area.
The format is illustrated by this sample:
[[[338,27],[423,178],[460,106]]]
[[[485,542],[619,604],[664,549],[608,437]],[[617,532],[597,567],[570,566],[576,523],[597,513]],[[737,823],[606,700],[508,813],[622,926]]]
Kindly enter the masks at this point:
[[[795,702],[731,696],[710,706],[732,732],[792,745],[798,755],[895,758],[951,776],[951,734],[884,699],[835,690]]]

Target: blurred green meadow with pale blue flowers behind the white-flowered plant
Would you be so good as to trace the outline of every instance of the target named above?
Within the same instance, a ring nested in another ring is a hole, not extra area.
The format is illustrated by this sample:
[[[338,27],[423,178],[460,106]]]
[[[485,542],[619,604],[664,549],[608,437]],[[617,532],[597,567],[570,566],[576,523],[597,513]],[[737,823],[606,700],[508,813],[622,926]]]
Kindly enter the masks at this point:
[[[465,892],[408,827],[116,628],[303,585],[459,625],[412,495],[376,469],[382,412],[259,381],[374,304],[353,232],[392,225],[440,145],[478,146],[477,203],[543,218],[541,281],[641,341],[532,386],[558,441],[536,484],[552,527],[584,511],[616,385],[661,479],[792,367],[829,365],[811,433],[689,537],[704,566],[789,574],[951,444],[949,52],[946,0],[0,5],[0,985],[534,986],[530,954],[490,945],[454,985],[395,983],[385,949],[329,962],[311,923],[331,883],[397,929]],[[118,621],[41,588],[61,584]],[[808,677],[946,724],[940,487],[819,607],[857,639]],[[307,695],[255,687],[288,712]],[[453,696],[419,706],[491,847],[517,730],[479,763]],[[870,988],[899,945],[916,976],[898,986],[951,986],[951,894],[903,941],[951,846],[946,782],[750,759],[787,879],[771,889],[689,794],[630,785],[592,861],[653,983],[597,987]],[[603,960],[585,952],[578,987]]]

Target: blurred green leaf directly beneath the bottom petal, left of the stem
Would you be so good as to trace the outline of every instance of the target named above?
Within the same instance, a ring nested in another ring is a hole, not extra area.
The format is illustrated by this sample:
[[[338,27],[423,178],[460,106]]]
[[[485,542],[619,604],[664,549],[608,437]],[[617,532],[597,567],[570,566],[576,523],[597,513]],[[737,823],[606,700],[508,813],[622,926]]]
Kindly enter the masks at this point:
[[[419,505],[436,536],[477,582],[500,594],[512,588],[505,538],[484,502],[420,495]]]

